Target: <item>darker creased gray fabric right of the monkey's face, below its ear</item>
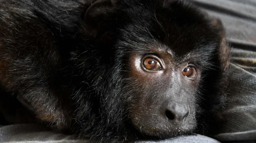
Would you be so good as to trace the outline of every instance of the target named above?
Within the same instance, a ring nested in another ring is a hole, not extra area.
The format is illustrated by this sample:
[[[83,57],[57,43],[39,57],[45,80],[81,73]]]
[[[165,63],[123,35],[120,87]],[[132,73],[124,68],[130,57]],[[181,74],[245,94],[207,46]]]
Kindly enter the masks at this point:
[[[223,133],[256,129],[256,52],[233,49],[232,54],[236,57],[232,57],[231,94],[224,112],[227,123]],[[254,55],[254,59],[248,55]]]

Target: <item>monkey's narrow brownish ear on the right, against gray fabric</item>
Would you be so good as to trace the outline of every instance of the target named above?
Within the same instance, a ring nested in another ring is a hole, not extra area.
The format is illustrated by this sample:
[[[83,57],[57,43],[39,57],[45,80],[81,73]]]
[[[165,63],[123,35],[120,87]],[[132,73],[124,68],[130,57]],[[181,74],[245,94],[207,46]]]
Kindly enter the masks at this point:
[[[216,29],[218,30],[219,35],[221,37],[221,41],[219,45],[220,49],[218,51],[219,52],[218,54],[220,55],[221,64],[225,69],[230,63],[230,48],[226,42],[225,28],[219,18],[214,18],[213,24],[216,26]]]

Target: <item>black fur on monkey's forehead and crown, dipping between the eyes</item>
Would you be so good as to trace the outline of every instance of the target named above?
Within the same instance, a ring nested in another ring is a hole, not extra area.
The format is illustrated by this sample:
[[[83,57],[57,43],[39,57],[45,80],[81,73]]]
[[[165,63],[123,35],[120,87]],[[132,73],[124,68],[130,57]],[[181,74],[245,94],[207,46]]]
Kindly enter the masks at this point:
[[[212,21],[191,4],[125,0],[119,8],[118,38],[133,51],[199,56],[215,51],[221,39]]]

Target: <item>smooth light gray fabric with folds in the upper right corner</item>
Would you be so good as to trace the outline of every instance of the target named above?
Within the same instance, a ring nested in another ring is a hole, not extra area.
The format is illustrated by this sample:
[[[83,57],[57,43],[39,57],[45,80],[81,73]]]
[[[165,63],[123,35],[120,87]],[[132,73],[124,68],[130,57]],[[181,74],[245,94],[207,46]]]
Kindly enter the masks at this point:
[[[229,42],[256,46],[256,0],[188,1],[220,18],[227,30]],[[255,47],[251,48],[255,50]]]

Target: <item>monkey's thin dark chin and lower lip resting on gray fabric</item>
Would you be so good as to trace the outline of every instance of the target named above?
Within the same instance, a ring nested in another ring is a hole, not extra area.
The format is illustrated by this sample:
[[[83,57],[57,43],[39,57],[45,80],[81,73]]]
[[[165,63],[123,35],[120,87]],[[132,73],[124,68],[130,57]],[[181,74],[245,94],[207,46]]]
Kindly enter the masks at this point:
[[[172,138],[181,135],[191,135],[194,133],[196,126],[180,126],[169,129],[157,128],[142,128],[141,126],[134,126],[143,136],[150,138]]]

